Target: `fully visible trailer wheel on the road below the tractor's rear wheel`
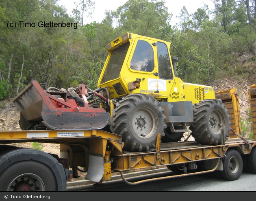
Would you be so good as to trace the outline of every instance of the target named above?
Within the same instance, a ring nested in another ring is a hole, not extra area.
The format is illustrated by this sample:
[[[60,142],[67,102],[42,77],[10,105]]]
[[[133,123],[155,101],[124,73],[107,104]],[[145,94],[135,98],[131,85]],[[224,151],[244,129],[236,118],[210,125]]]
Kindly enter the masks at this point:
[[[223,171],[220,171],[221,177],[230,181],[239,179],[243,172],[243,159],[239,152],[234,149],[228,150],[222,162]]]

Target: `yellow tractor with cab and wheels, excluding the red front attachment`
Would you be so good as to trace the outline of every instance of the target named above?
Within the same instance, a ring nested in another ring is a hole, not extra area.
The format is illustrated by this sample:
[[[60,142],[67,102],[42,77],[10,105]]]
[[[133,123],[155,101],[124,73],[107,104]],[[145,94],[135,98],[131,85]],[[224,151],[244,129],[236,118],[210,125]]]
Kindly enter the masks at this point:
[[[111,100],[109,125],[122,136],[124,150],[148,151],[162,142],[178,142],[190,127],[201,144],[228,138],[228,110],[213,87],[176,77],[178,57],[170,42],[126,33],[106,45],[108,57],[98,87]]]

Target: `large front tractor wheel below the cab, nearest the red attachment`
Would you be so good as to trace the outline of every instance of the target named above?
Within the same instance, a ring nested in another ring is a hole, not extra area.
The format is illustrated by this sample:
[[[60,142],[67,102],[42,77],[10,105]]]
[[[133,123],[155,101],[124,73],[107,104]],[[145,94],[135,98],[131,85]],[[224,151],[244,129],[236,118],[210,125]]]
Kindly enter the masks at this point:
[[[148,151],[156,147],[157,134],[164,136],[166,117],[160,103],[146,94],[132,94],[116,102],[110,129],[122,136],[124,150]]]

